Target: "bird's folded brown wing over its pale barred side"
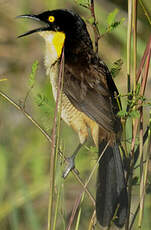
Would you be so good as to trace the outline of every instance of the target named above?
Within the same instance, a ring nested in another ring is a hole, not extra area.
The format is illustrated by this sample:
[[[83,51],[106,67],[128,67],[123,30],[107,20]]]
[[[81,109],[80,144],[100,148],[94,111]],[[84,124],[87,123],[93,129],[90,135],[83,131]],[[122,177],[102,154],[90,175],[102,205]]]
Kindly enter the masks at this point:
[[[77,78],[65,67],[63,91],[78,110],[107,131],[115,132],[116,118],[111,93],[104,79],[101,81],[98,76],[93,76],[94,72],[89,71],[87,78],[86,73],[80,71],[81,76]]]

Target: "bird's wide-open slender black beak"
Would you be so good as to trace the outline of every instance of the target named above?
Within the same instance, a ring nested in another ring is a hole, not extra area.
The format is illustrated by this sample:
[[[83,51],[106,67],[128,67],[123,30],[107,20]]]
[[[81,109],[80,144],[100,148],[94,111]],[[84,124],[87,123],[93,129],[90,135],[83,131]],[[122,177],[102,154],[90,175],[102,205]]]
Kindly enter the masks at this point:
[[[41,20],[39,19],[39,16],[34,15],[34,14],[20,15],[20,16],[17,16],[16,18],[30,18],[30,19],[33,19],[35,21],[41,22]],[[45,22],[45,24],[47,24],[47,23]],[[47,26],[45,26],[45,27],[40,27],[40,28],[37,28],[37,29],[34,29],[34,30],[30,30],[30,31],[28,31],[28,32],[26,32],[24,34],[21,34],[21,35],[17,36],[17,38],[21,38],[21,37],[27,36],[29,34],[33,34],[35,32],[45,31],[45,30],[48,30],[48,28],[49,28],[49,25],[47,24]]]

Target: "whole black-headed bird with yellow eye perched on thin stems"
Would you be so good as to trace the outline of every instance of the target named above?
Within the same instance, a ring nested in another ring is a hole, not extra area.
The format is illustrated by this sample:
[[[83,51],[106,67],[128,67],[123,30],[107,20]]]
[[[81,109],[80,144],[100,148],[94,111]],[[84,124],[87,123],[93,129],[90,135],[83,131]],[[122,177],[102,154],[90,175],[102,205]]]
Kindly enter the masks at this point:
[[[43,37],[45,67],[55,100],[64,53],[61,118],[78,134],[80,142],[65,174],[74,167],[75,155],[86,142],[90,130],[98,156],[101,156],[96,182],[96,217],[103,227],[114,222],[121,228],[126,223],[128,194],[120,153],[122,125],[118,111],[121,102],[111,73],[96,55],[86,23],[75,11],[55,9],[18,17],[42,23],[18,37],[33,33]]]

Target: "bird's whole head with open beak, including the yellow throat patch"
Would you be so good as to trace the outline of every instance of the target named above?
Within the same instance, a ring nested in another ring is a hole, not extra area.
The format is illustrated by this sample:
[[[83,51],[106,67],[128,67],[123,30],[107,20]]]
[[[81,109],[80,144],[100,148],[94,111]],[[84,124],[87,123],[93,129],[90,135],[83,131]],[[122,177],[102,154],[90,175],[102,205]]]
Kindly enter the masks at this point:
[[[18,37],[24,37],[36,32],[45,39],[47,48],[56,50],[60,57],[65,45],[66,51],[80,49],[80,44],[91,47],[91,40],[83,19],[71,10],[52,10],[38,15],[27,14],[17,18],[30,18],[43,23],[43,26],[30,30]]]

